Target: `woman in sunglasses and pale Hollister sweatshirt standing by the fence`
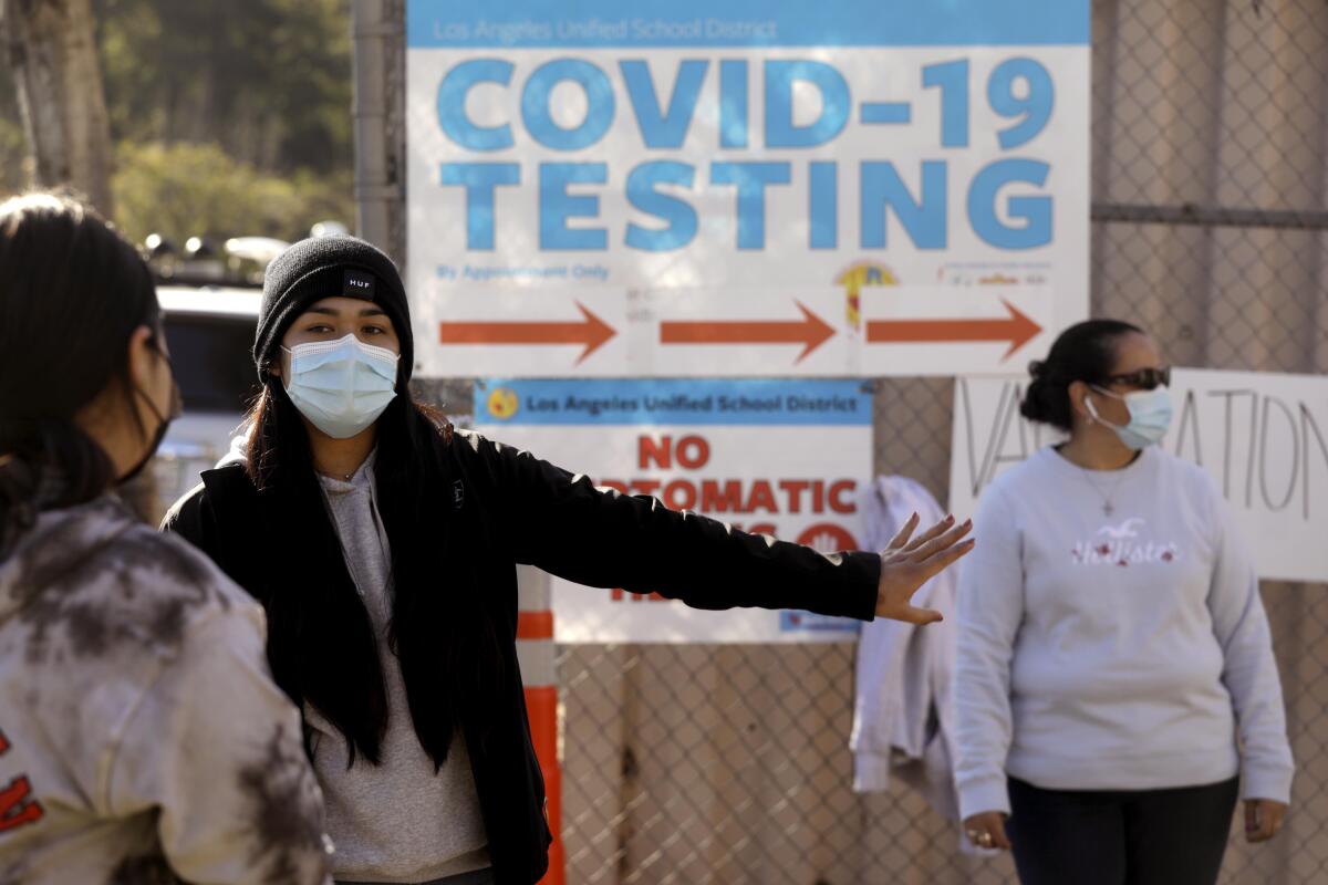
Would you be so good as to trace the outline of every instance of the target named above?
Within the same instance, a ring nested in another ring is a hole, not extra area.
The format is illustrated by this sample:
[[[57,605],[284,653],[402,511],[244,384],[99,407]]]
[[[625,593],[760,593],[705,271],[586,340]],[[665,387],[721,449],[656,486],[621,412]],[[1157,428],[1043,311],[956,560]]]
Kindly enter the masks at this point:
[[[1211,885],[1243,774],[1271,839],[1292,760],[1259,582],[1220,492],[1155,443],[1170,370],[1090,321],[1032,366],[1068,442],[997,478],[960,576],[956,784],[1024,885]]]

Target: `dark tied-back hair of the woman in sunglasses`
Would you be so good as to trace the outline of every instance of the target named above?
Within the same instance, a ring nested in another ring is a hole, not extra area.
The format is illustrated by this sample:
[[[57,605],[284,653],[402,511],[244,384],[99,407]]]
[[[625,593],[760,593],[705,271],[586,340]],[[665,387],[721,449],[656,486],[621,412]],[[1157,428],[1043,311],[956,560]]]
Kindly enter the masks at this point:
[[[1105,382],[1116,364],[1117,341],[1142,333],[1138,326],[1120,320],[1089,320],[1070,326],[1056,338],[1046,360],[1028,366],[1032,381],[1024,391],[1020,413],[1029,421],[1073,430],[1070,385]]]

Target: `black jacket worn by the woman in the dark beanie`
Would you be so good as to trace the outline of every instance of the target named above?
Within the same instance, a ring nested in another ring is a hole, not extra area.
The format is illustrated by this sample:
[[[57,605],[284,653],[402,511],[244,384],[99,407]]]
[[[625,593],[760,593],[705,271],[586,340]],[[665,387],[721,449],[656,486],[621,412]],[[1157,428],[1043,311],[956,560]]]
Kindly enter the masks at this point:
[[[481,739],[463,724],[499,885],[538,881],[552,839],[517,663],[518,563],[590,586],[653,590],[701,609],[794,608],[874,617],[880,560],[872,553],[821,555],[772,543],[671,511],[653,498],[598,490],[586,476],[473,433],[457,431],[448,454],[456,479],[437,490],[438,506],[461,508],[481,539],[457,553],[471,561],[463,568],[449,564],[449,580],[474,576],[466,589],[485,594],[501,625],[501,671],[511,674],[502,689],[502,727]],[[278,527],[266,524],[242,464],[206,471],[202,486],[173,508],[163,528],[205,551],[264,605],[274,588],[263,564],[291,555],[282,548]]]

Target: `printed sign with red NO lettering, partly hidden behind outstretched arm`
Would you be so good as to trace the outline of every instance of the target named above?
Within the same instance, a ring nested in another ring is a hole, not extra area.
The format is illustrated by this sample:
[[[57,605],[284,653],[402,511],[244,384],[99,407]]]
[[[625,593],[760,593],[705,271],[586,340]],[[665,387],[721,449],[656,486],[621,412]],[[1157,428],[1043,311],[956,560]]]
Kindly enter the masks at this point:
[[[675,510],[834,552],[865,533],[871,394],[850,381],[482,381],[475,427]],[[857,622],[699,612],[552,580],[559,642],[847,641]]]

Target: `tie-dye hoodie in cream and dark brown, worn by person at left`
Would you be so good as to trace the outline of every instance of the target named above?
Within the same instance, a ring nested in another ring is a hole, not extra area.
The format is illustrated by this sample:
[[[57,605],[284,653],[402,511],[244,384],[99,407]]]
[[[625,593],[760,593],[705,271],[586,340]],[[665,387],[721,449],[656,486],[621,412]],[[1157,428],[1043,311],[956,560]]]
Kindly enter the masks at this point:
[[[114,498],[0,552],[0,885],[328,881],[262,610]]]

